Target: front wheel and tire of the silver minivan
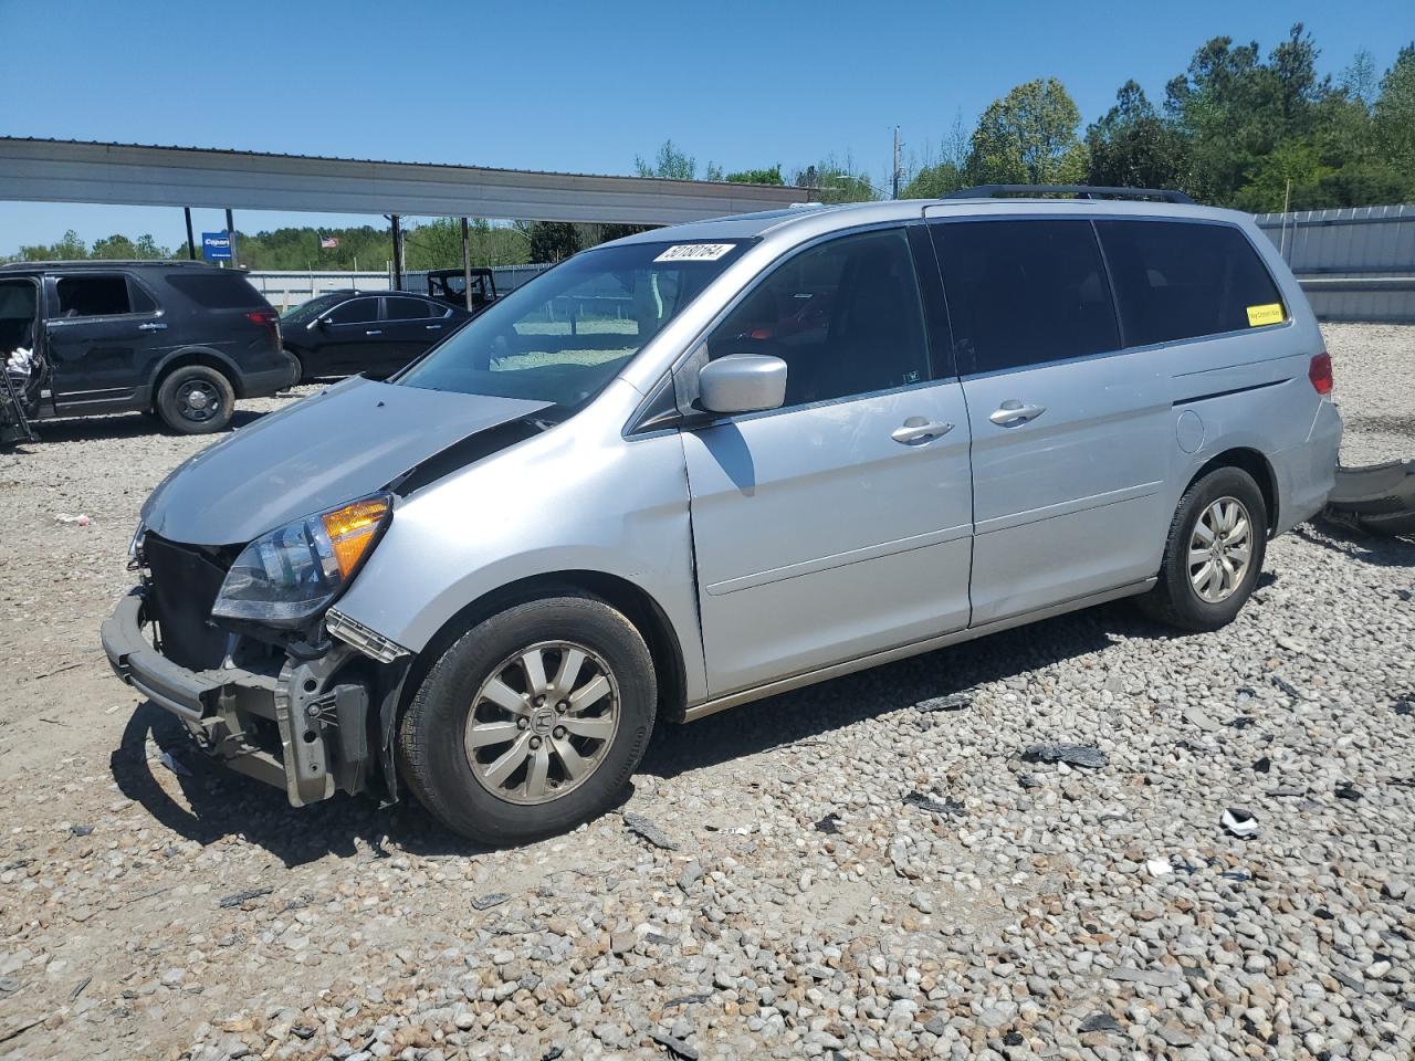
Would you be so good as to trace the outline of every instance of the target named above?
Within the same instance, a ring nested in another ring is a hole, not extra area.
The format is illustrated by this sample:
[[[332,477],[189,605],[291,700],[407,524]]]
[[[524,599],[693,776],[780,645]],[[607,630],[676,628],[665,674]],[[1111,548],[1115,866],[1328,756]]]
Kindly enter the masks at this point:
[[[584,659],[558,682],[567,647]],[[538,655],[539,685],[522,654]],[[593,696],[600,679],[607,692]],[[543,705],[538,689],[549,695]],[[584,702],[562,713],[566,689]],[[403,714],[399,763],[417,801],[453,832],[491,846],[526,843],[621,798],[657,703],[648,647],[623,614],[594,597],[532,600],[480,622],[433,665]]]

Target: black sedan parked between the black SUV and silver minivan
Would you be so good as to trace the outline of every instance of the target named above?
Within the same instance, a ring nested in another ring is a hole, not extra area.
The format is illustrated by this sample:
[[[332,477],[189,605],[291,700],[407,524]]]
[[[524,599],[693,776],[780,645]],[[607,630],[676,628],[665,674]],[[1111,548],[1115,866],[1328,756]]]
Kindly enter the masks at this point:
[[[471,314],[410,291],[331,291],[280,318],[301,379],[389,376],[457,331]]]

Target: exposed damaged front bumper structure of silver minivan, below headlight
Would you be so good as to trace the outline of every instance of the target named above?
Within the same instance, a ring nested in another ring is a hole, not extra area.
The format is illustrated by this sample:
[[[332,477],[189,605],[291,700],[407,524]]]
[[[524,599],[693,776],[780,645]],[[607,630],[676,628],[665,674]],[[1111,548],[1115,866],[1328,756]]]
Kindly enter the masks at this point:
[[[103,651],[115,673],[174,714],[212,758],[286,791],[293,806],[361,791],[379,744],[389,789],[393,707],[406,656],[375,659],[342,641],[307,659],[270,655],[252,669],[226,663],[190,671],[149,638],[143,587],[103,622]],[[396,647],[395,647],[396,648]],[[378,706],[378,714],[369,710]]]

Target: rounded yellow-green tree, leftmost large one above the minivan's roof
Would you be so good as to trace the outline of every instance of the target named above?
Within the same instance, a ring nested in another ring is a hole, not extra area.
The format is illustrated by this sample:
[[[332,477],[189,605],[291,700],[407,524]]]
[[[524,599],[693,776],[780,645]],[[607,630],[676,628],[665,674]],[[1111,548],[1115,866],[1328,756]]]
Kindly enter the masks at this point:
[[[1056,78],[1017,85],[978,120],[969,177],[985,184],[1078,184],[1087,167],[1080,124],[1081,112]]]

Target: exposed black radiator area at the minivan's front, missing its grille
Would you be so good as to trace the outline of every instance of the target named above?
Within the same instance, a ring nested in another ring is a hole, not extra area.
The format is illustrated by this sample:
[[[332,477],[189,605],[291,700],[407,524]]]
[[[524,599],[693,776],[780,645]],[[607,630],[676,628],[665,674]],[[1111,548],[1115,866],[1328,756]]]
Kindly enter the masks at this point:
[[[147,614],[157,620],[163,655],[188,671],[219,666],[226,632],[211,621],[226,567],[208,552],[147,532],[143,559],[149,570]]]

